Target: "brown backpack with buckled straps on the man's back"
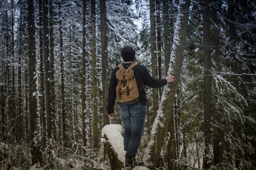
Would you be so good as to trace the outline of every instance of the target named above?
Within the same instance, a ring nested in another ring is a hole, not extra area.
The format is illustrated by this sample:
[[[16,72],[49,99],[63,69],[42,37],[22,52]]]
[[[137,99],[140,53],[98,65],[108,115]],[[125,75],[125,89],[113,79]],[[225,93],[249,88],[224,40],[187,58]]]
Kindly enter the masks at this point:
[[[116,78],[118,79],[116,95],[119,105],[131,105],[140,101],[140,93],[133,71],[135,65],[137,65],[135,62],[130,67],[125,68],[122,64],[117,65],[120,68],[116,71]]]

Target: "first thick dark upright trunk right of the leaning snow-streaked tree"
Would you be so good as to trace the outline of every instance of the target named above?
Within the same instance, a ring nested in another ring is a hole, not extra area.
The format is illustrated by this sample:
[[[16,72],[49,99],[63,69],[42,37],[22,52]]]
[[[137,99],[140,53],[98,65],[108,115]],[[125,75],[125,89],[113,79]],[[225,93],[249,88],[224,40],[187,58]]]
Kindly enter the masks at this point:
[[[212,77],[211,48],[210,48],[210,14],[209,0],[203,1],[204,27],[204,170],[213,167],[212,146]]]

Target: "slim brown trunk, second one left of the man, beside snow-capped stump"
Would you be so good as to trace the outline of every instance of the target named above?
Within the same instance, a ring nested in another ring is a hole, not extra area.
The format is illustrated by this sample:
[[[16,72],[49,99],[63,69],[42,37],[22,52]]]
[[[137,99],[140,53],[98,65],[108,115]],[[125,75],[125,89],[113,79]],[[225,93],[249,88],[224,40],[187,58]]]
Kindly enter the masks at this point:
[[[96,79],[96,23],[95,0],[91,0],[92,19],[92,71],[93,71],[93,148],[99,149],[98,114],[97,114],[97,79]]]

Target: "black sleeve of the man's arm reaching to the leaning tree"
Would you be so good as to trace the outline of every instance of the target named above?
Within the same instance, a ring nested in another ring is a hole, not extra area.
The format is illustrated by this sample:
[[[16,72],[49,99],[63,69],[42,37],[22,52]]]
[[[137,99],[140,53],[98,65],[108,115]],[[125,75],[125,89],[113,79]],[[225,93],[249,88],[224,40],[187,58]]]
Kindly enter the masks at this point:
[[[151,88],[161,88],[167,84],[166,79],[155,79],[151,77],[148,72],[148,69],[143,66],[143,81],[144,84]]]

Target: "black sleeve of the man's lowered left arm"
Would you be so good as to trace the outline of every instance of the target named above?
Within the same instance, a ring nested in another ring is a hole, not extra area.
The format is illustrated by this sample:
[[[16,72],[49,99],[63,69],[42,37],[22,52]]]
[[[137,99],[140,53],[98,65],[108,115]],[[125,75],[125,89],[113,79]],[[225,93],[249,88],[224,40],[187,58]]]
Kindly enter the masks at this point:
[[[114,105],[116,101],[116,69],[114,69],[111,73],[109,87],[108,87],[108,106],[107,113],[114,113]]]

